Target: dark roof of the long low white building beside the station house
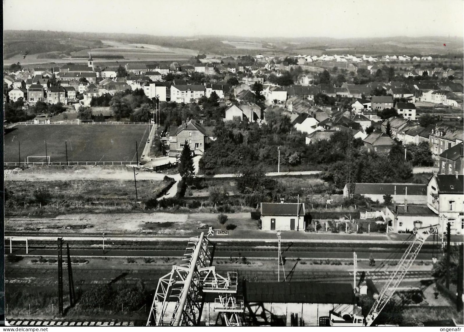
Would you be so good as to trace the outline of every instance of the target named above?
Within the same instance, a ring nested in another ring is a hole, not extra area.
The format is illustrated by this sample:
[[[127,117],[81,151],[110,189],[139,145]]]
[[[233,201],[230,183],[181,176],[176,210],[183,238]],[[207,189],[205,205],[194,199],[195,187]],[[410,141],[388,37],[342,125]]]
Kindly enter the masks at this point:
[[[427,185],[417,183],[355,183],[355,194],[394,195],[396,186],[397,195],[427,195]]]

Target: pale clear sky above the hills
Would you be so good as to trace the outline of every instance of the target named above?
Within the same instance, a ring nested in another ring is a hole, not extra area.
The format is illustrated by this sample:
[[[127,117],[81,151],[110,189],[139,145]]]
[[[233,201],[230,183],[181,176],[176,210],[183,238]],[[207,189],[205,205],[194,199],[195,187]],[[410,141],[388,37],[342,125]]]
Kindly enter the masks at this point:
[[[4,30],[157,36],[464,36],[463,0],[3,0]]]

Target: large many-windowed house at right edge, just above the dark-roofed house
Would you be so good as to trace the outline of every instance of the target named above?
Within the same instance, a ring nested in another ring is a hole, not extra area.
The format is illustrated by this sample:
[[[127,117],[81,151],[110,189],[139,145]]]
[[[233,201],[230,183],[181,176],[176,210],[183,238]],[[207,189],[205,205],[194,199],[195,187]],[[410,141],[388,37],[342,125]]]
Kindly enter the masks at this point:
[[[438,159],[438,156],[444,151],[463,142],[463,128],[437,124],[429,135],[429,145],[432,155]]]

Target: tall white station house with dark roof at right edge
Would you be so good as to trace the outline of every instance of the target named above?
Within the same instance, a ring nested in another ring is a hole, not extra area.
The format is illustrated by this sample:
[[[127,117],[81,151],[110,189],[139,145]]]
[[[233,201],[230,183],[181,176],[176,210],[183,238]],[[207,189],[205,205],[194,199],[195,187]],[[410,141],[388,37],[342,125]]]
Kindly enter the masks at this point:
[[[464,175],[433,174],[427,185],[427,206],[438,215],[440,234],[451,224],[451,234],[464,232]]]

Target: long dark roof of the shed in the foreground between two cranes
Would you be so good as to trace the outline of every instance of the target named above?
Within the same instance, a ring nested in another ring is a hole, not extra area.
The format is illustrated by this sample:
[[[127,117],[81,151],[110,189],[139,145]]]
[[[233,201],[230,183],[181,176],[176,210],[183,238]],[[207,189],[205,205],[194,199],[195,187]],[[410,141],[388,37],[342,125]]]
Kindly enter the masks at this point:
[[[350,283],[246,282],[248,303],[326,303],[354,304],[356,299]]]

